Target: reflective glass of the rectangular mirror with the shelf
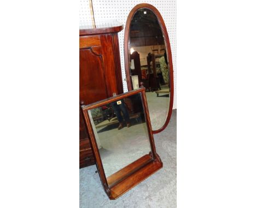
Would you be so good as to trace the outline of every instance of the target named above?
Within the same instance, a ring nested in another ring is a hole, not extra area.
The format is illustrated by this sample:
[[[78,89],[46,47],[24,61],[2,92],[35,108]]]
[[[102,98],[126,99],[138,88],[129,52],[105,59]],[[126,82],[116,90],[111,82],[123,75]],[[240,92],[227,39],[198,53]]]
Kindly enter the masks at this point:
[[[143,164],[152,161],[141,94],[91,109],[89,115],[109,186],[117,182],[118,173],[132,162],[143,156]],[[129,167],[118,180],[134,171]]]

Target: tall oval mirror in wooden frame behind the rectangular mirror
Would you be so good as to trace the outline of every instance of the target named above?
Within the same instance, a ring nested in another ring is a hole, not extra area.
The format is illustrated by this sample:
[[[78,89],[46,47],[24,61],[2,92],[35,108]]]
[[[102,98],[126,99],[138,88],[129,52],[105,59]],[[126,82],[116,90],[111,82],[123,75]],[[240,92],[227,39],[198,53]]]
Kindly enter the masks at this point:
[[[146,88],[153,133],[165,129],[173,105],[173,66],[170,40],[159,11],[138,4],[130,12],[124,36],[128,90]]]

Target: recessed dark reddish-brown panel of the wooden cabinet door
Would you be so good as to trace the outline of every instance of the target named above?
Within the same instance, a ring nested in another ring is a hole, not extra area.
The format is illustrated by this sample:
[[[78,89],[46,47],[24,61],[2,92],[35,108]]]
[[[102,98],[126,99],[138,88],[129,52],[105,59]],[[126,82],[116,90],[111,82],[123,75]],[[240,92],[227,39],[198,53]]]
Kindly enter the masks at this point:
[[[80,49],[79,69],[80,101],[88,105],[108,97],[102,56],[95,53],[93,47]]]

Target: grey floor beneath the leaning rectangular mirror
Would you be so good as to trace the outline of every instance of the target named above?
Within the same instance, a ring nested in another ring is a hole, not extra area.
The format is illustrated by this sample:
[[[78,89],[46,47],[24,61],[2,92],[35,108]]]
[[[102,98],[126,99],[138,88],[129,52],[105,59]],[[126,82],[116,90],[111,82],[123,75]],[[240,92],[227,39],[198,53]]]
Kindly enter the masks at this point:
[[[154,134],[156,152],[164,167],[116,200],[109,200],[96,166],[80,169],[80,208],[170,207],[176,208],[176,115],[172,111],[166,129]]]

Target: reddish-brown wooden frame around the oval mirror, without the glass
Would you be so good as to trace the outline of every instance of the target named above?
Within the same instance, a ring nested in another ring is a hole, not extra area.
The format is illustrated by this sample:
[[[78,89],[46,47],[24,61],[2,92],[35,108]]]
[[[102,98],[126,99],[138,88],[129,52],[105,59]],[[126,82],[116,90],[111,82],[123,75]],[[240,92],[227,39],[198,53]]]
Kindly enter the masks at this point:
[[[167,118],[165,120],[164,125],[162,125],[162,127],[160,129],[152,131],[153,133],[159,133],[159,132],[165,130],[166,126],[170,122],[171,115],[172,115],[173,93],[174,93],[173,65],[172,65],[172,53],[171,53],[170,40],[169,40],[169,36],[168,36],[168,33],[167,33],[167,29],[165,27],[164,19],[162,19],[162,16],[159,13],[158,9],[156,9],[151,4],[146,4],[146,3],[137,4],[135,7],[133,7],[133,9],[129,13],[129,16],[127,17],[127,21],[126,21],[126,25],[125,25],[125,35],[124,35],[124,59],[125,59],[126,82],[127,82],[128,90],[129,91],[132,90],[131,76],[130,76],[130,69],[129,69],[129,54],[130,54],[129,48],[128,48],[129,31],[130,31],[132,17],[135,15],[135,13],[136,13],[136,11],[138,9],[142,9],[142,8],[146,8],[146,9],[152,10],[153,13],[155,14],[155,16],[157,17],[159,25],[160,25],[160,27],[162,29],[162,33],[164,35],[165,47],[166,47],[166,50],[167,50],[166,53],[167,53],[167,57],[168,57],[169,79],[170,79],[169,83],[170,83],[170,88],[171,88],[170,89],[170,103],[169,103],[169,109],[168,109]]]

